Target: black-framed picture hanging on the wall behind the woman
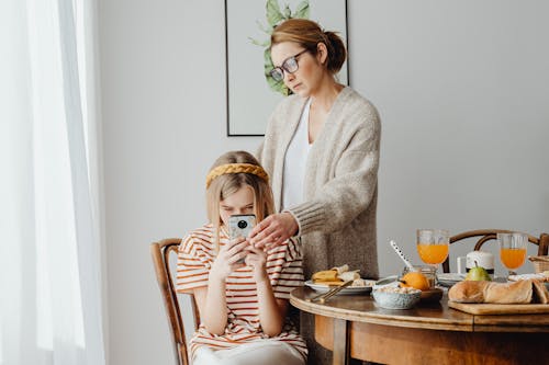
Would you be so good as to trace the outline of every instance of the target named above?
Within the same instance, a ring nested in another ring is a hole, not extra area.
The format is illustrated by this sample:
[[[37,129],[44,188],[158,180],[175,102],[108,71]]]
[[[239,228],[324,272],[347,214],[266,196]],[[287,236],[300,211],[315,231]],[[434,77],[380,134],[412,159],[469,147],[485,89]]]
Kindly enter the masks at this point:
[[[277,104],[289,93],[269,75],[272,28],[290,18],[317,22],[347,44],[346,0],[225,0],[227,136],[262,136]],[[336,76],[348,84],[348,65]]]

